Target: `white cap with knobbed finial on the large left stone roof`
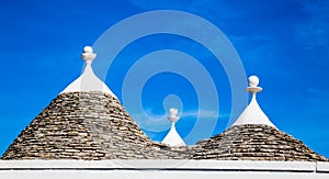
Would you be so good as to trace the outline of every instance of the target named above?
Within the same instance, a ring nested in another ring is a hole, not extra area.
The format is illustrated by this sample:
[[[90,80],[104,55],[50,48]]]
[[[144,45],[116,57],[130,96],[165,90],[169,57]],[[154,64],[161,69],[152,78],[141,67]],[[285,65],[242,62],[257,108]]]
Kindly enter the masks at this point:
[[[97,54],[93,53],[92,47],[86,46],[83,48],[83,53],[81,54],[81,58],[86,63],[83,72],[79,78],[77,78],[73,82],[66,87],[65,90],[63,90],[60,93],[100,91],[115,97],[115,94],[110,90],[110,88],[93,72],[91,63]]]

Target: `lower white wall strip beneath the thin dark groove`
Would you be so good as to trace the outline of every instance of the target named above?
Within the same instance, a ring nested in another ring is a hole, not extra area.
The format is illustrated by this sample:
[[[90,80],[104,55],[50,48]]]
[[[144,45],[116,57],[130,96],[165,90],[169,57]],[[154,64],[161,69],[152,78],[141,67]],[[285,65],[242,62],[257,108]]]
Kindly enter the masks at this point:
[[[313,172],[182,171],[182,170],[19,170],[0,171],[3,179],[328,179]]]

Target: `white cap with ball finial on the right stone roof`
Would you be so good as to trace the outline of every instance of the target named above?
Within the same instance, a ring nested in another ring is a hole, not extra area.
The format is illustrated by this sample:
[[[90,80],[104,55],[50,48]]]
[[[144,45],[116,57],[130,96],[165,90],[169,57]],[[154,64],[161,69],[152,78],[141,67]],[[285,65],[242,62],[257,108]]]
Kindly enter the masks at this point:
[[[252,93],[251,101],[232,125],[264,124],[275,127],[257,102],[256,94],[262,91],[262,88],[258,87],[259,78],[251,76],[248,80],[250,87],[247,88],[247,91]]]

